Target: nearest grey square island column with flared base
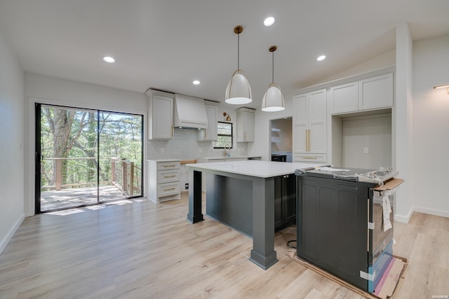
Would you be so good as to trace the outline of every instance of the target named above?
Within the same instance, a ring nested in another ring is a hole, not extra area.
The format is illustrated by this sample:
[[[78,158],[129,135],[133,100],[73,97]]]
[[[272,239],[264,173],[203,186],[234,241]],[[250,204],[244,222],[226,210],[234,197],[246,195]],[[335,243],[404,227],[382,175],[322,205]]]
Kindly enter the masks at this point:
[[[250,260],[264,270],[278,261],[274,251],[274,178],[253,179],[253,249]]]

